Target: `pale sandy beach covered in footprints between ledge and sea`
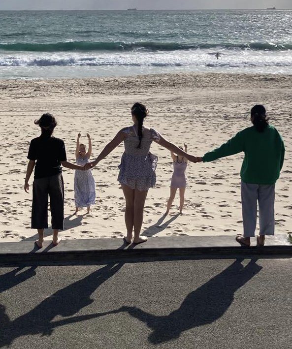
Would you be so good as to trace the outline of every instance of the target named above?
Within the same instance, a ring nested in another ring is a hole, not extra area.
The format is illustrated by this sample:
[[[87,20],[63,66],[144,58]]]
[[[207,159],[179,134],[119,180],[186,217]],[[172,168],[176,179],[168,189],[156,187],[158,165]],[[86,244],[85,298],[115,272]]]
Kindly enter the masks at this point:
[[[30,228],[32,187],[23,190],[30,140],[39,135],[34,119],[51,112],[58,121],[54,135],[63,138],[67,158],[75,162],[77,133],[93,141],[94,159],[116,132],[131,125],[135,101],[150,111],[145,123],[189,152],[202,156],[249,127],[249,110],[264,104],[270,123],[281,132],[286,157],[276,186],[276,234],[292,232],[292,76],[227,73],[180,73],[125,78],[0,81],[0,242],[34,240]],[[74,213],[74,171],[64,169],[63,239],[116,238],[125,233],[123,192],[117,182],[121,144],[93,170],[97,202],[90,215]],[[169,196],[170,153],[153,144],[159,157],[157,185],[148,194],[142,235],[236,235],[242,233],[240,167],[243,154],[211,163],[189,163],[184,215],[179,197],[162,221]],[[32,178],[30,180],[32,186]],[[46,229],[45,239],[52,230]]]

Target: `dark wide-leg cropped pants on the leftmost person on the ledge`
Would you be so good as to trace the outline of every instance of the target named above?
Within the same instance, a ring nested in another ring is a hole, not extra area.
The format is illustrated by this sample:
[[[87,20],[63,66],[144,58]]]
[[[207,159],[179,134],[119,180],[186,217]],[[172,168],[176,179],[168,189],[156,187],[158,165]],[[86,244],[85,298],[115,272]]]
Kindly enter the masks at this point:
[[[37,178],[32,186],[32,229],[48,227],[48,199],[52,228],[64,229],[64,181],[62,174]]]

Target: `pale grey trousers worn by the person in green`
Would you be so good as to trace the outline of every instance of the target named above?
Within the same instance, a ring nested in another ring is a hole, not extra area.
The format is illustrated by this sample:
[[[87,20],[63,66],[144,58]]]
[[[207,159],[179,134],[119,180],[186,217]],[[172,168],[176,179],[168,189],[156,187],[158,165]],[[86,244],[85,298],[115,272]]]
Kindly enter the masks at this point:
[[[241,181],[243,236],[255,236],[259,201],[260,235],[275,232],[275,184],[260,185]]]

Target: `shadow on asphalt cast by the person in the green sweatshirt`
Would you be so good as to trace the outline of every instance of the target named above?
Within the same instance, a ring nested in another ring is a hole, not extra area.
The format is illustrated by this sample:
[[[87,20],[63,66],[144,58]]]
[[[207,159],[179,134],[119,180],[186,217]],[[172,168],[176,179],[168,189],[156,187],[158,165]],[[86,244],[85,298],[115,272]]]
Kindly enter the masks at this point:
[[[234,293],[261,269],[255,260],[245,267],[236,260],[222,273],[188,294],[180,308],[167,316],[155,316],[136,307],[122,307],[120,311],[128,312],[152,328],[149,341],[158,345],[222,317],[231,305]]]

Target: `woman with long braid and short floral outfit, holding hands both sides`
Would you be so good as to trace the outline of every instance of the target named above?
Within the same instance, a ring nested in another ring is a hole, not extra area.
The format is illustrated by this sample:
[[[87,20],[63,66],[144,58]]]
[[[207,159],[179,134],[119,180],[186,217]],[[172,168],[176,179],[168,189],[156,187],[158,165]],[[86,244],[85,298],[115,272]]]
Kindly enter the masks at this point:
[[[162,147],[178,154],[190,161],[196,158],[167,141],[154,128],[143,125],[148,115],[148,110],[142,103],[135,103],[131,107],[133,126],[121,129],[117,135],[104,147],[97,159],[91,162],[96,166],[99,161],[111,153],[121,142],[124,141],[125,152],[119,166],[118,181],[122,185],[126,199],[125,222],[127,236],[125,240],[130,244],[134,229],[135,244],[147,241],[146,236],[140,236],[143,222],[143,211],[149,188],[155,186],[157,156],[150,153],[151,143],[154,141]]]

